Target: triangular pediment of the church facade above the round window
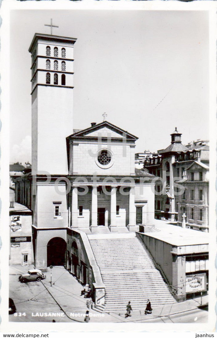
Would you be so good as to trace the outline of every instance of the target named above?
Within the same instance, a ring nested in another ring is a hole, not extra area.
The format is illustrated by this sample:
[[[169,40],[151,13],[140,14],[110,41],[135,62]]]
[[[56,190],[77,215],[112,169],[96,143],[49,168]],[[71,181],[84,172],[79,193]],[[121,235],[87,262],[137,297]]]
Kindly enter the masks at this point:
[[[130,134],[128,131],[125,131],[107,121],[96,124],[90,128],[80,130],[71,135],[74,138],[127,138],[131,140],[137,140],[138,137]]]

